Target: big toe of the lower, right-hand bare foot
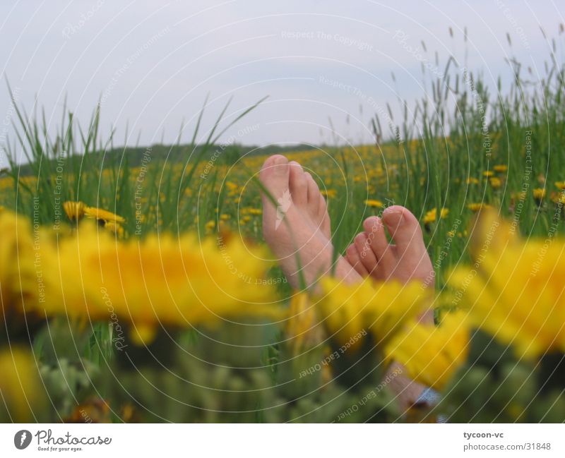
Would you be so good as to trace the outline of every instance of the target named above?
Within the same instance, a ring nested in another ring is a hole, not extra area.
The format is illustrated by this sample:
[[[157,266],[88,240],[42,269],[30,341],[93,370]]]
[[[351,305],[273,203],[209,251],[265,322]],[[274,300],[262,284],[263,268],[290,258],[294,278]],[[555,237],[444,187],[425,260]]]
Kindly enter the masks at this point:
[[[383,211],[383,222],[396,244],[398,258],[421,256],[426,253],[420,222],[405,207],[393,205]]]

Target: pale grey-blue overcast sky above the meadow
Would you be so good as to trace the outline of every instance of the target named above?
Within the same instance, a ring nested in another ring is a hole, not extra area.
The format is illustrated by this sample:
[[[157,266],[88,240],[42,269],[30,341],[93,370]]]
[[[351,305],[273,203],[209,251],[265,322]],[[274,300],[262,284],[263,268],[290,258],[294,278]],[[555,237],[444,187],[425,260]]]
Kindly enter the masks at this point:
[[[371,114],[382,114],[387,101],[396,107],[398,97],[426,95],[422,63],[441,73],[454,54],[489,82],[502,76],[508,83],[504,58],[512,55],[544,73],[549,42],[540,27],[559,39],[562,59],[563,6],[562,0],[1,0],[0,66],[28,111],[37,96],[52,129],[67,96],[83,123],[100,100],[102,133],[116,126],[117,143],[126,123],[130,144],[140,132],[143,145],[160,141],[163,131],[172,142],[182,119],[189,140],[206,94],[205,130],[230,97],[228,117],[268,95],[224,140],[328,142],[331,117],[338,135],[357,143],[370,140]],[[12,112],[2,81],[0,128],[8,136]]]

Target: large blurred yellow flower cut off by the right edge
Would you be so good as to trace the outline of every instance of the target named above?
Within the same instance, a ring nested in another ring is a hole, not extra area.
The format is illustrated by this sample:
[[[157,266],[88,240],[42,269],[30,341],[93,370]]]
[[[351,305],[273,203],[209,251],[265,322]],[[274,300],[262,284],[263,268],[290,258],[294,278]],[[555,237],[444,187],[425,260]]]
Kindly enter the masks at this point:
[[[494,212],[472,236],[474,264],[448,283],[472,325],[513,345],[518,356],[565,351],[565,243],[550,236],[525,242]]]

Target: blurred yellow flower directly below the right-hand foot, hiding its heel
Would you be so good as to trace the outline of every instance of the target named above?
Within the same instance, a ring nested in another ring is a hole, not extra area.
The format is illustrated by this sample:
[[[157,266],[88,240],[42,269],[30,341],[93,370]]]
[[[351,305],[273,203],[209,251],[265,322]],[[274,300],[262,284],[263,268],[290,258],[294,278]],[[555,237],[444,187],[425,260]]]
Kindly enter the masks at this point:
[[[396,281],[374,283],[366,279],[359,284],[344,284],[338,279],[321,280],[323,296],[317,303],[321,319],[340,342],[365,330],[375,342],[383,344],[400,330],[404,323],[426,311],[432,293],[419,282],[402,284]]]

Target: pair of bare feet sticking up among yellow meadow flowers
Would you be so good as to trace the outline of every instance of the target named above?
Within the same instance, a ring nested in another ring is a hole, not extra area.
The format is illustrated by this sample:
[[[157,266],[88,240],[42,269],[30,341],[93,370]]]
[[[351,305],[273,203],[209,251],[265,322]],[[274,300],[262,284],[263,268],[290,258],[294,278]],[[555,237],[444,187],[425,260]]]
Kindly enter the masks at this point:
[[[305,282],[302,286],[306,287],[331,272],[348,283],[361,282],[369,275],[401,282],[429,283],[434,278],[420,223],[405,207],[393,205],[383,211],[382,217],[365,219],[364,231],[355,236],[344,257],[333,253],[326,200],[298,162],[271,156],[263,164],[259,179],[270,194],[262,195],[263,235],[293,287],[301,286],[300,272]],[[386,231],[394,244],[388,243]],[[422,315],[422,321],[433,323],[433,313]],[[391,370],[398,368],[393,365]],[[394,377],[391,387],[403,409],[414,404],[424,390],[404,376]]]

